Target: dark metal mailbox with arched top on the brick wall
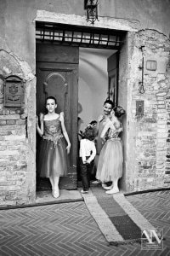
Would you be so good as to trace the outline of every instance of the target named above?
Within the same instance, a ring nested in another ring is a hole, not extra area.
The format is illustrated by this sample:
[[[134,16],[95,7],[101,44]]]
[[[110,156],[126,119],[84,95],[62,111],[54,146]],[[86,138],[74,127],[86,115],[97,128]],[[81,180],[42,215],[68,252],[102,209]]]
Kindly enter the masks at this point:
[[[4,107],[22,107],[24,102],[24,81],[10,75],[4,80]]]

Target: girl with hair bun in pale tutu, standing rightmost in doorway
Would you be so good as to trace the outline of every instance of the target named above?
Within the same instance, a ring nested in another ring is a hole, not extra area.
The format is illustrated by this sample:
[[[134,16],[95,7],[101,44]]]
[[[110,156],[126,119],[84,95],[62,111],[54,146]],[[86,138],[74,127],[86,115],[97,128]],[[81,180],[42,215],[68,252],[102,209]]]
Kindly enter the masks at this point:
[[[115,108],[116,115],[122,116],[125,111],[121,107]],[[109,120],[101,132],[101,139],[104,146],[99,154],[99,163],[96,173],[96,178],[101,183],[112,182],[111,187],[104,187],[110,189],[106,191],[107,194],[114,194],[119,192],[118,179],[122,177],[122,141],[118,137],[122,131],[122,124],[117,119],[115,112],[112,112],[111,120]],[[108,132],[108,133],[107,133]],[[105,134],[107,137],[105,138]]]

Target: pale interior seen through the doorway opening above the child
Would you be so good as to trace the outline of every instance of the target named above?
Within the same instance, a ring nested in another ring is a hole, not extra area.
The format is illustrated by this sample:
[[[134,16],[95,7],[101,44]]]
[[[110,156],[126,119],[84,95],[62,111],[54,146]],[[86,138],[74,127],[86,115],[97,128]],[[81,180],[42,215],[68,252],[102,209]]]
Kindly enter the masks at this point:
[[[115,58],[116,50],[113,49],[79,49],[79,82],[78,103],[80,104],[78,120],[78,132],[81,134],[86,126],[93,120],[97,120],[103,113],[103,103],[110,98],[116,104],[116,95],[113,93],[113,83],[110,73],[114,73],[116,87],[116,65],[110,70],[110,60]],[[112,85],[112,88],[111,88]],[[116,90],[116,88],[114,88]],[[81,137],[79,136],[80,140]],[[78,162],[77,162],[78,163]],[[91,180],[95,179],[96,168],[93,168]],[[80,182],[80,168],[77,164],[77,180]]]

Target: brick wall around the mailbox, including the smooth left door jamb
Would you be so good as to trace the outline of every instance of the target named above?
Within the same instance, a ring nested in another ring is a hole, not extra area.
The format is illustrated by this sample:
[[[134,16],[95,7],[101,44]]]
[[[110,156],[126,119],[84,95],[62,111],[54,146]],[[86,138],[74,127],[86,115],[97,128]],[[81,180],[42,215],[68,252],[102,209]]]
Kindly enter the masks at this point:
[[[0,60],[0,206],[20,205],[35,200],[36,81],[29,81],[25,63],[6,51],[0,51]],[[23,108],[4,107],[4,78],[11,74],[27,79]]]

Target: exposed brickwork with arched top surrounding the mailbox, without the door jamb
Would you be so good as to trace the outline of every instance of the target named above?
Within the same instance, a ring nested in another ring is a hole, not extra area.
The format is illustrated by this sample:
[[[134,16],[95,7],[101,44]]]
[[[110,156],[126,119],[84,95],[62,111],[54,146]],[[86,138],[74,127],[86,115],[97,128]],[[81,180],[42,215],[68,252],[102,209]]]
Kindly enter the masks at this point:
[[[0,59],[0,205],[20,205],[35,197],[35,186],[32,189],[31,185],[34,177],[28,173],[27,109],[26,104],[5,108],[3,85],[8,75],[23,78],[24,74],[14,56],[1,50]]]

